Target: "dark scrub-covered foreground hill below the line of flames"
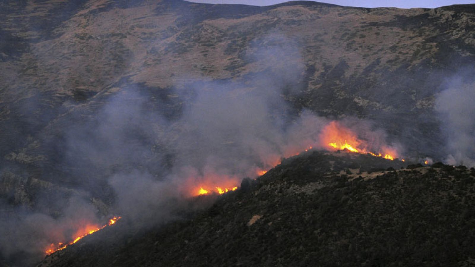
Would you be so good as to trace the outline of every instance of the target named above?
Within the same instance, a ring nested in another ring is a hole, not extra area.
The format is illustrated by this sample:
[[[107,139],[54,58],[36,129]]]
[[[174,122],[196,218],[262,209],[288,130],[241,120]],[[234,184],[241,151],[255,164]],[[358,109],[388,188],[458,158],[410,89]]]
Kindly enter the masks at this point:
[[[39,266],[473,265],[475,170],[401,166],[310,151],[188,220],[103,233]]]

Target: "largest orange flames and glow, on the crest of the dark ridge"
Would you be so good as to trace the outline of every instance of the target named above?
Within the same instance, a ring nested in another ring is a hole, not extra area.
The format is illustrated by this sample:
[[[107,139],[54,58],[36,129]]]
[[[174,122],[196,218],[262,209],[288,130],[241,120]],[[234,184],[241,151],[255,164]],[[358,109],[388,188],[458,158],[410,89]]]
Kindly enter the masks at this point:
[[[369,144],[361,140],[350,129],[342,126],[337,121],[332,121],[327,124],[320,134],[320,142],[323,147],[327,149],[348,150],[354,153],[370,154],[374,157],[383,157],[385,159],[394,160],[397,153],[394,149],[389,147],[382,148],[384,153],[373,153],[367,149]]]

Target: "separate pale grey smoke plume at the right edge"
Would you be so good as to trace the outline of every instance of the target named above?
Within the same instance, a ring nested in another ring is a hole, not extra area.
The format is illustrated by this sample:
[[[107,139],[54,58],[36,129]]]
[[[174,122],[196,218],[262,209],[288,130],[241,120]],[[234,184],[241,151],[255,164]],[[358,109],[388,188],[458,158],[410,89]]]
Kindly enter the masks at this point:
[[[447,136],[446,162],[475,166],[475,83],[452,80],[437,98],[442,129]]]

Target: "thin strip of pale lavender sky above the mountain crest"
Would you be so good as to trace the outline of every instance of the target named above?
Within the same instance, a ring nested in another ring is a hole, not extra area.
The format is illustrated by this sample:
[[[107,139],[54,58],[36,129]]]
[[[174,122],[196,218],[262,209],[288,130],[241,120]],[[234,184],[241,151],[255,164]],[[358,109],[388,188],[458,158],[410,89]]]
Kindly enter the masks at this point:
[[[196,3],[213,4],[246,4],[254,6],[268,6],[287,2],[285,0],[188,0]],[[474,4],[475,0],[321,0],[322,3],[331,3],[351,7],[396,7],[396,8],[437,8],[455,4]]]

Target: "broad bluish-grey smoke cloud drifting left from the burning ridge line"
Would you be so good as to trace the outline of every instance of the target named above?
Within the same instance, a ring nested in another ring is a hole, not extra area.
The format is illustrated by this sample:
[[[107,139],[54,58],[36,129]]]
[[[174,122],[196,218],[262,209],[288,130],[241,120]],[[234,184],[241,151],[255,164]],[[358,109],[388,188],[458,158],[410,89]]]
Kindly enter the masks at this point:
[[[71,229],[101,225],[113,215],[136,227],[174,220],[200,186],[238,186],[282,157],[323,148],[319,135],[329,120],[285,101],[298,94],[304,74],[297,47],[280,35],[262,37],[242,55],[256,73],[171,89],[129,84],[59,119],[64,142],[52,142],[63,151],[58,165],[67,170],[64,179],[90,194],[54,200],[68,203],[57,216],[45,208],[1,221],[2,255],[22,251],[39,259],[49,243],[70,240]],[[341,123],[374,151],[384,146],[387,136],[377,125]],[[109,208],[98,207],[95,198]]]

